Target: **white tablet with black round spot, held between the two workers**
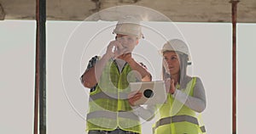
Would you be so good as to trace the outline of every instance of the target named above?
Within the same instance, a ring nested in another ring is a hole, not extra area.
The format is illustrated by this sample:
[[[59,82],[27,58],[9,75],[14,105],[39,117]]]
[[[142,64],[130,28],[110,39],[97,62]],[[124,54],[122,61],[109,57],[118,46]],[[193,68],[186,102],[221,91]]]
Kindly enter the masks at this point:
[[[141,104],[160,104],[166,102],[165,81],[131,82],[129,84],[131,92],[142,92],[143,96],[135,102],[135,105]]]

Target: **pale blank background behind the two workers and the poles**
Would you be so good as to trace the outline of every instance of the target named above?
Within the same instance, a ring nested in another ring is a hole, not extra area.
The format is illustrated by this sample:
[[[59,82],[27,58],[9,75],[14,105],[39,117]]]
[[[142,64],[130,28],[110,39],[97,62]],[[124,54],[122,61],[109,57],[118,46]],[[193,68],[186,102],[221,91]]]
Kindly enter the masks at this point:
[[[85,133],[88,89],[79,82],[91,56],[104,53],[113,39],[109,23],[47,23],[47,117],[49,134]],[[113,23],[114,25],[114,23]],[[149,25],[149,24],[148,24]],[[150,24],[167,39],[183,37],[189,42],[193,65],[189,73],[199,75],[207,93],[207,109],[202,116],[210,134],[231,133],[231,25],[218,23],[177,23],[180,35],[170,24]],[[171,26],[171,28],[170,28]],[[253,75],[256,25],[238,25],[237,41],[237,127],[238,133],[253,131]],[[172,29],[172,31],[170,31]],[[152,30],[152,29],[151,29]],[[156,50],[164,40],[160,34],[144,29],[145,39],[136,48],[143,60],[160,79],[160,60]],[[174,31],[173,31],[174,30]],[[96,34],[98,32],[98,34]],[[174,33],[174,34],[173,34]],[[150,36],[151,35],[151,36]],[[154,36],[153,36],[154,35]],[[32,133],[34,92],[35,22],[0,22],[0,133]],[[95,36],[95,39],[91,39]],[[152,37],[153,36],[153,37]],[[100,40],[99,40],[100,39]],[[91,43],[87,43],[90,41]],[[147,46],[148,45],[148,46]],[[101,47],[102,46],[102,47]],[[146,47],[147,46],[147,47]],[[254,48],[254,49],[253,49]],[[150,50],[150,51],[148,51]],[[154,54],[152,54],[154,53]],[[151,122],[143,123],[150,133]]]

